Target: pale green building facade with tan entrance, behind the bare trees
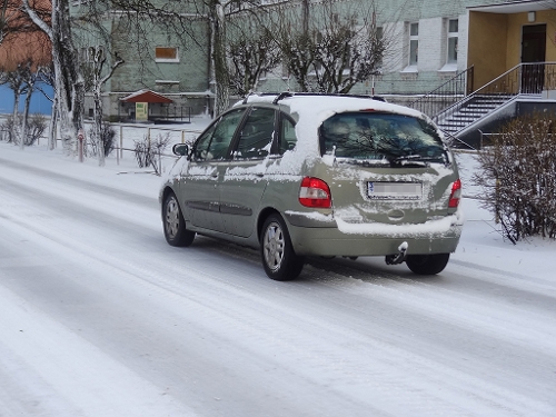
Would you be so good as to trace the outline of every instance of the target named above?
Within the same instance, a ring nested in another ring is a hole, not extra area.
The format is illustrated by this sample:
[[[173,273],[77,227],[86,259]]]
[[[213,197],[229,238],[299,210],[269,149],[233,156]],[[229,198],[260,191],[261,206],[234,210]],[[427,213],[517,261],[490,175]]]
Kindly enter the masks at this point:
[[[298,8],[301,14],[302,1],[284,3]],[[341,11],[353,10],[360,1],[335,3]],[[320,2],[309,4],[318,7]],[[380,95],[409,105],[465,72],[456,91],[464,97],[523,62],[556,60],[556,2],[550,0],[375,0],[374,7],[388,49],[380,72],[357,83],[353,93]],[[73,12],[79,12],[79,6],[75,8]],[[202,9],[190,11],[198,13],[198,19],[180,39],[157,24],[146,24],[149,36],[145,39],[132,39],[122,30],[126,22],[121,18],[106,22],[110,33],[107,50],[126,61],[103,87],[105,112],[112,119],[131,118],[132,109],[121,99],[139,90],[172,100],[152,107],[153,117],[179,112],[183,107],[192,113],[211,112],[210,23]],[[99,39],[81,37],[83,53]],[[267,73],[258,85],[262,92],[288,89],[297,86],[281,68]],[[88,108],[92,108],[90,101],[86,113]]]

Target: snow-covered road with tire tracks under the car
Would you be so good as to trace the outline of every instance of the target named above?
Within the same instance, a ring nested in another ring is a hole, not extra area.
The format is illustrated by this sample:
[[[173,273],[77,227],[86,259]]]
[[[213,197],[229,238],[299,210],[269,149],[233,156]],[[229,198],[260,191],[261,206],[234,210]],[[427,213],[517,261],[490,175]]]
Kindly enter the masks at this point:
[[[555,245],[465,200],[437,277],[276,282],[254,250],[169,247],[160,179],[118,170],[0,143],[1,417],[556,416]]]

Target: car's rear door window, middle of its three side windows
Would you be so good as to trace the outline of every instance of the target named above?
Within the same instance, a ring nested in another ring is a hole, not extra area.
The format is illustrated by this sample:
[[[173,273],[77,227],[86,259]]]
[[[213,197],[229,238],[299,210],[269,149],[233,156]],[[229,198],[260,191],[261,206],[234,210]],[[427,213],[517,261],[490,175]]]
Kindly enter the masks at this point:
[[[254,108],[239,136],[236,159],[258,159],[270,153],[275,133],[276,111],[268,108]]]

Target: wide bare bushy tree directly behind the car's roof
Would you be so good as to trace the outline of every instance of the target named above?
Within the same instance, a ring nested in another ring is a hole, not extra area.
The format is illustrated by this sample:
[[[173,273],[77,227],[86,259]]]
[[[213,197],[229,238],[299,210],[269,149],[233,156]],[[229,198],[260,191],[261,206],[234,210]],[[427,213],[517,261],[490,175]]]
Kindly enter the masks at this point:
[[[379,73],[388,40],[377,27],[374,2],[340,12],[328,0],[310,12],[314,19],[307,22],[299,21],[296,10],[281,10],[276,30],[285,63],[301,91],[347,93]]]

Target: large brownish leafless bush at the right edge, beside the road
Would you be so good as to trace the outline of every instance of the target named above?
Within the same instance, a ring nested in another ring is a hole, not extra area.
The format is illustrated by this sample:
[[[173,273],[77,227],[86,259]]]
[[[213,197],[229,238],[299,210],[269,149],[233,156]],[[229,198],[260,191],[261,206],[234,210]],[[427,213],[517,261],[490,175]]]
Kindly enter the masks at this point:
[[[554,115],[514,119],[479,151],[484,207],[512,242],[530,236],[556,238],[556,123]]]

